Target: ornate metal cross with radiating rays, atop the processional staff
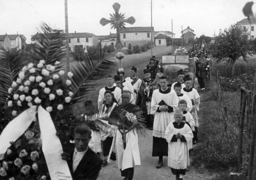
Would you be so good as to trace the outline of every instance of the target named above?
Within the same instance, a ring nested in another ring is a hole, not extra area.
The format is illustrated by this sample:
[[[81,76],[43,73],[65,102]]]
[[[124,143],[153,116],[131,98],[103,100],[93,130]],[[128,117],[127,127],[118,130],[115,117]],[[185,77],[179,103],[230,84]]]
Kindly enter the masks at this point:
[[[113,4],[113,9],[115,10],[115,13],[113,14],[109,14],[110,15],[110,19],[105,19],[102,18],[99,23],[102,26],[105,26],[106,24],[111,24],[111,29],[117,29],[117,42],[115,44],[115,47],[117,49],[121,49],[122,48],[122,44],[121,44],[121,38],[120,38],[120,30],[125,28],[125,23],[129,23],[129,24],[134,24],[135,23],[135,19],[133,16],[129,17],[128,19],[125,19],[125,13],[121,14],[119,13],[119,9],[121,7],[121,5],[119,3],[114,3]]]

